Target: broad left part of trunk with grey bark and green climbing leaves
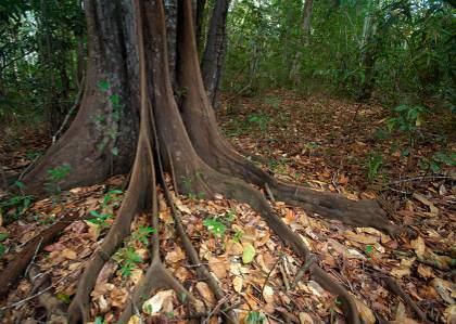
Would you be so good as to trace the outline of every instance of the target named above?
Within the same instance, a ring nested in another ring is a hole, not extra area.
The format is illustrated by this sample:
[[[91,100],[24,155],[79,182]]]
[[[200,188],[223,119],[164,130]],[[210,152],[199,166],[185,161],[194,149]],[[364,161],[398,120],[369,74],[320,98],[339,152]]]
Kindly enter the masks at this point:
[[[87,0],[85,8],[89,60],[81,106],[65,134],[25,176],[34,194],[45,194],[47,184],[92,184],[127,172],[132,163],[139,122],[132,7],[128,1]],[[49,177],[49,170],[62,166],[69,167],[64,179]]]

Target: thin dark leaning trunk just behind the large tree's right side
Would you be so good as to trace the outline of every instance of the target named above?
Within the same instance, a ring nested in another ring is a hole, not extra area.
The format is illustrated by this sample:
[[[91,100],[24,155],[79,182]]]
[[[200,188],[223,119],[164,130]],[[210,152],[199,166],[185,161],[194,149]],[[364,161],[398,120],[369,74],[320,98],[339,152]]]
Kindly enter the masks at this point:
[[[201,63],[204,87],[213,106],[215,106],[217,99],[217,90],[221,78],[221,65],[224,64],[225,50],[227,47],[226,22],[228,8],[229,0],[215,1],[206,47]]]

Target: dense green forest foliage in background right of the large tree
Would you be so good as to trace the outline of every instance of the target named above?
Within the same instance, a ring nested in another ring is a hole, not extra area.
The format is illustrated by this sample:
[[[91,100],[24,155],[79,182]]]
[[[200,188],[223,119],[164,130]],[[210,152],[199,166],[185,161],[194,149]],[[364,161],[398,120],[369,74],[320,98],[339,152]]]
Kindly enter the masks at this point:
[[[454,107],[454,10],[447,1],[314,1],[309,42],[301,1],[233,1],[224,87],[303,88]],[[265,102],[268,99],[265,100]]]

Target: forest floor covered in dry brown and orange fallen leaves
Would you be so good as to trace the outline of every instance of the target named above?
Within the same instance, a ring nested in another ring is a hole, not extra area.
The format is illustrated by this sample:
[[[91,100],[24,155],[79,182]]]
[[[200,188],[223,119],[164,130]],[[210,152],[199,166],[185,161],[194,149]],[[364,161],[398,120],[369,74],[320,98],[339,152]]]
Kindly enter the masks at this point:
[[[271,202],[320,267],[355,296],[365,323],[423,322],[413,306],[430,322],[456,323],[456,172],[442,158],[456,150],[454,121],[443,114],[432,116],[410,147],[406,135],[388,133],[388,109],[376,104],[287,91],[225,98],[218,111],[225,134],[243,152],[261,155],[263,167],[275,177],[353,199],[376,198],[393,222],[417,233],[390,237]],[[34,129],[1,139],[0,165],[7,177],[22,172],[49,144]],[[29,273],[25,275],[0,301],[2,323],[46,322],[46,301],[40,298],[45,295],[62,304],[71,301],[86,262],[113,223],[124,187],[125,177],[119,176],[30,205],[29,197],[0,193],[0,271],[43,229],[68,213],[79,216],[34,257],[34,269],[48,275],[52,285],[40,290]],[[305,273],[295,281],[302,261],[249,206],[223,196],[214,200],[177,196],[175,202],[201,260],[242,323],[345,323],[335,296]],[[135,220],[132,235],[97,278],[91,293],[93,322],[115,323],[148,268],[148,236],[159,230],[164,264],[210,310],[197,322],[217,323],[218,303],[174,236],[162,194],[160,229],[148,226],[147,218]],[[402,289],[392,288],[385,277],[393,277]],[[398,290],[410,299],[398,296]],[[181,297],[173,290],[157,291],[130,323],[188,323],[191,314]],[[27,322],[30,319],[35,322]]]

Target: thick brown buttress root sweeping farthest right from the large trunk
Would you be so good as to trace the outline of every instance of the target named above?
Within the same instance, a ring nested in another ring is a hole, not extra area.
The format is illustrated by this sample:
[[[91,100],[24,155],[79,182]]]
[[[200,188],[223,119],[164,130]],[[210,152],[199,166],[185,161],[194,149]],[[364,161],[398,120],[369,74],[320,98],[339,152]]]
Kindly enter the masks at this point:
[[[183,5],[185,7],[185,5]],[[191,8],[180,13],[178,41],[178,81],[187,89],[181,116],[186,130],[199,157],[211,168],[226,176],[243,179],[261,187],[268,185],[276,199],[300,206],[322,217],[341,220],[356,226],[372,226],[395,235],[400,231],[391,224],[376,202],[353,202],[341,195],[321,193],[274,179],[240,155],[220,134],[214,109],[205,95],[198,61]]]

